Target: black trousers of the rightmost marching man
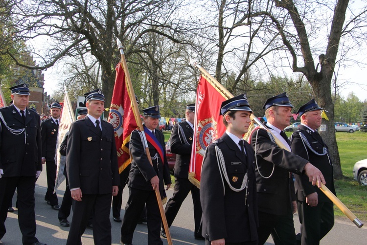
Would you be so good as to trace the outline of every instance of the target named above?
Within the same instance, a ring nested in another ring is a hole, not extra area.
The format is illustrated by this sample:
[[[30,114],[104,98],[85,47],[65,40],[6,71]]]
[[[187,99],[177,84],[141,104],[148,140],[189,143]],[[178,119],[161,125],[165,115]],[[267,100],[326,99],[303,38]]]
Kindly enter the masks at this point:
[[[334,226],[333,203],[320,202],[316,207],[310,207],[305,202],[297,202],[297,209],[301,223],[301,244],[319,245]]]

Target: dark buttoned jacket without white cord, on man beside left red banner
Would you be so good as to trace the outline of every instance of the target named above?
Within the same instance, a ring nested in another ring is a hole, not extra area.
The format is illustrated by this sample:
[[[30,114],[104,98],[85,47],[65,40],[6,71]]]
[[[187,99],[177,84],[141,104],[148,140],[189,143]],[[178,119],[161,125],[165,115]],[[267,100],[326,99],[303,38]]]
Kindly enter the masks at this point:
[[[79,187],[83,194],[109,194],[120,183],[114,128],[101,123],[101,136],[89,117],[70,125],[66,155],[70,190]]]

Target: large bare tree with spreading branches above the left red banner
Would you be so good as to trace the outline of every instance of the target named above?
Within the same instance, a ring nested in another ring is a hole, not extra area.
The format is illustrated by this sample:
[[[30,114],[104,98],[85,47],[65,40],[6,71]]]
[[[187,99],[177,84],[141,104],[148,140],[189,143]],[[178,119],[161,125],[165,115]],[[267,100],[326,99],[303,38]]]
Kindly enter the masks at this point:
[[[181,1],[169,0],[6,0],[10,14],[17,18],[12,33],[18,40],[34,40],[34,56],[39,68],[51,67],[64,56],[90,52],[101,67],[101,83],[107,103],[111,101],[115,64],[119,52],[118,38],[128,57],[140,52],[146,35],[151,32],[180,43],[176,34],[187,31],[186,22],[175,19]],[[41,44],[46,46],[40,48]],[[151,44],[150,44],[151,45]],[[16,56],[13,59],[23,64]]]

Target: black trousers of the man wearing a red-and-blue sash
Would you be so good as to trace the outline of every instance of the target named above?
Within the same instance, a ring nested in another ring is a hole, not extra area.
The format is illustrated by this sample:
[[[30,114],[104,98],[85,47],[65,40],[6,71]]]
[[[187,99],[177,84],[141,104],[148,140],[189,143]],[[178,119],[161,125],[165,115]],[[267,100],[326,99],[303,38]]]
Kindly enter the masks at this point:
[[[129,188],[129,200],[125,208],[125,215],[121,225],[121,242],[131,244],[135,228],[141,215],[141,210],[146,204],[147,225],[148,225],[148,245],[162,245],[161,213],[158,206],[157,197],[154,191],[144,191]]]

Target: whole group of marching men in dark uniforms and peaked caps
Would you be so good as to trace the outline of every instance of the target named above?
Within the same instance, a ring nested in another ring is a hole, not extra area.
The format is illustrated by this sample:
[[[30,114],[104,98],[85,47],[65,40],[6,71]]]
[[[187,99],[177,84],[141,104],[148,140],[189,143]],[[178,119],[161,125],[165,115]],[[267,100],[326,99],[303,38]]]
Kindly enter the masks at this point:
[[[131,133],[131,165],[119,173],[114,128],[100,118],[105,97],[100,89],[84,95],[87,109],[79,111],[59,149],[67,163],[67,188],[60,206],[53,190],[61,105],[52,103],[51,116],[41,123],[40,116],[27,108],[28,86],[10,89],[13,103],[0,108],[0,239],[17,189],[23,244],[45,245],[36,238],[34,190],[46,166],[45,201],[58,210],[60,225],[70,226],[68,245],[80,245],[87,227],[93,229],[94,244],[111,244],[111,203],[113,221],[121,222],[121,244],[132,244],[137,224],[146,222],[148,244],[162,245],[167,230],[155,191],[164,199],[171,178],[164,136],[157,130],[159,106],[143,109],[144,135],[138,129]],[[283,131],[293,110],[286,93],[268,98],[263,109],[265,129],[255,127],[246,142],[243,135],[249,131],[252,114],[246,96],[222,102],[217,113],[223,122],[218,123],[223,123],[226,131],[206,148],[199,190],[188,180],[195,104],[186,106],[186,120],[174,124],[171,133],[170,148],[177,159],[173,196],[164,210],[168,227],[191,192],[194,238],[205,240],[206,245],[262,245],[270,235],[276,245],[317,245],[330,231],[333,203],[318,188],[322,183],[335,194],[328,148],[317,131],[322,108],[312,99],[298,109],[301,125],[291,140]],[[129,197],[121,219],[125,185]],[[293,223],[297,210],[301,223],[298,237]]]

